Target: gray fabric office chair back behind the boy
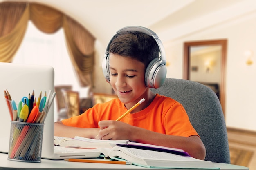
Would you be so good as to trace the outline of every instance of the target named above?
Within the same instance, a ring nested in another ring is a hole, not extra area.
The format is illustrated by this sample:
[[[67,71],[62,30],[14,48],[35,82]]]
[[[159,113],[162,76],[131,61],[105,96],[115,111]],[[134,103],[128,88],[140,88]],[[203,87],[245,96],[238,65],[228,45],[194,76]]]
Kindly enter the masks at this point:
[[[166,78],[159,89],[151,90],[184,106],[206,148],[205,160],[230,163],[223,111],[218,97],[210,88],[189,80]]]

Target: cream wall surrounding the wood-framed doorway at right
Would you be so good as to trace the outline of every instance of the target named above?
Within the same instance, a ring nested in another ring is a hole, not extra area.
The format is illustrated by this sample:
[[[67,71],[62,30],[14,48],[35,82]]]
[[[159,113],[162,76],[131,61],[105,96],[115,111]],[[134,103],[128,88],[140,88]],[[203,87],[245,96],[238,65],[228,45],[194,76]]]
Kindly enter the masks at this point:
[[[228,40],[226,74],[227,127],[256,131],[256,12],[201,30],[175,41],[164,42],[167,77],[182,78],[183,43],[192,40]],[[244,52],[252,50],[254,63],[246,65]]]

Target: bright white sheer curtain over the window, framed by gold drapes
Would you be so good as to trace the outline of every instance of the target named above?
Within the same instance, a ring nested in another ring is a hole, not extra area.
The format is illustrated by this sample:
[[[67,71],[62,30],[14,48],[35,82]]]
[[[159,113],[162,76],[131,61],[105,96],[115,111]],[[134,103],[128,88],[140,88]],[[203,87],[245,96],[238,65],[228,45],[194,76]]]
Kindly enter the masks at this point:
[[[29,21],[13,63],[50,65],[55,71],[55,85],[72,84],[73,89],[79,91],[80,97],[88,97],[88,87],[81,87],[76,78],[62,28],[54,34],[46,34]]]

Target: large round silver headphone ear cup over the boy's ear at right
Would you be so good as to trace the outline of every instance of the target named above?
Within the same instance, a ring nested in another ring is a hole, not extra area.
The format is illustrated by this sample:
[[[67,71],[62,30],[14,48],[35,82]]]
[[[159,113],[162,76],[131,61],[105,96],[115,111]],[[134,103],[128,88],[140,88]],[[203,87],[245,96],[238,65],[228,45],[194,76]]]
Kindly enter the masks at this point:
[[[164,83],[167,69],[158,58],[152,60],[145,72],[145,84],[149,88],[159,88]]]

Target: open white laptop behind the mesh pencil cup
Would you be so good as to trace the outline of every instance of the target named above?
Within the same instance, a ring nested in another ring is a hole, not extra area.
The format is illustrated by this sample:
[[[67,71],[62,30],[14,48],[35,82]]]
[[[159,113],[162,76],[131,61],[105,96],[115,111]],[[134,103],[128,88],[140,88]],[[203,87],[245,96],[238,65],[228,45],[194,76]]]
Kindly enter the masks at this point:
[[[54,91],[54,68],[52,66],[12,64],[0,62],[0,152],[8,153],[11,117],[4,99],[4,90],[8,90],[11,98],[18,103],[23,96],[28,96],[34,89],[35,96],[49,90]],[[54,103],[44,122],[42,158],[91,158],[99,157],[100,152],[72,148],[57,148],[54,146]],[[63,150],[67,149],[67,150]]]

